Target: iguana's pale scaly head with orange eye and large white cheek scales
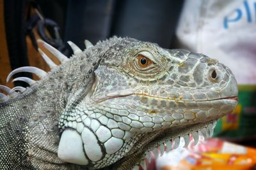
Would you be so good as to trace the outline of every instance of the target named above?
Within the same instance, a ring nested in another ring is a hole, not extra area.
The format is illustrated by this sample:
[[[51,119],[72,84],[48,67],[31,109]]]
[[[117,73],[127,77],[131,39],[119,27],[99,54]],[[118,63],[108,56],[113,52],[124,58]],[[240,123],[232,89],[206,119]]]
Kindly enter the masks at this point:
[[[180,138],[188,145],[198,132],[211,135],[216,120],[237,104],[230,69],[203,54],[131,38],[83,53],[99,49],[92,86],[68,101],[60,119],[58,155],[67,162],[131,168],[148,151],[176,148]]]

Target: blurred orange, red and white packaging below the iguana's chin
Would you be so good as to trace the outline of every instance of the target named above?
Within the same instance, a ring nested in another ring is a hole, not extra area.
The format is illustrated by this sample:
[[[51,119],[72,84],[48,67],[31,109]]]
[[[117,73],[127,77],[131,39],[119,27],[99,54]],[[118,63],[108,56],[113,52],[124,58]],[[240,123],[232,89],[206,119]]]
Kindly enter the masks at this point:
[[[164,160],[162,159],[162,166],[158,166],[157,169],[246,170],[253,169],[256,164],[256,149],[235,145],[217,138],[209,138],[195,147],[184,148],[183,150],[188,152],[184,159],[175,162],[175,164],[168,161],[166,161],[166,164],[163,164]],[[172,151],[169,154],[172,155]]]

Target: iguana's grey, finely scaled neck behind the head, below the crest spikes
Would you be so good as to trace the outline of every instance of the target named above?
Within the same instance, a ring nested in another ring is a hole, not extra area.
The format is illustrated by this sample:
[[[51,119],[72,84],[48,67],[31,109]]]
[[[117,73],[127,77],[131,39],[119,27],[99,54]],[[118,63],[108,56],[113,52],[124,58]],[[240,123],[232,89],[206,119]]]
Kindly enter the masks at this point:
[[[66,101],[77,89],[86,88],[89,80],[92,80],[92,75],[89,74],[84,76],[83,83],[76,82],[77,78],[81,78],[78,70],[89,69],[86,62],[83,61],[85,67],[79,64],[81,58],[74,57],[68,60],[54,68],[26,92],[6,103],[1,103],[1,137],[10,139],[12,143],[12,150],[8,153],[10,155],[7,154],[6,157],[12,157],[13,162],[19,157],[26,157],[27,159],[22,159],[22,164],[40,169],[45,169],[45,164],[49,163],[52,163],[52,168],[56,166],[57,169],[72,166],[65,165],[57,156],[60,140],[58,123],[61,112],[67,105]],[[3,143],[0,146],[5,148],[10,146],[10,143]],[[16,157],[13,157],[13,154]]]

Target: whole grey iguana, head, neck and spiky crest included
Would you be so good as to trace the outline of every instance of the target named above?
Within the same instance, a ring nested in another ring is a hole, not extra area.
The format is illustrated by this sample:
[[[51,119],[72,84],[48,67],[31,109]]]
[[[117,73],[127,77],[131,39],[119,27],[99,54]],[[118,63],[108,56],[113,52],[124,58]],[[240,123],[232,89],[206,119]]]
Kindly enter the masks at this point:
[[[110,38],[80,50],[68,41],[68,59],[42,50],[51,71],[36,67],[30,87],[1,86],[1,169],[138,169],[150,152],[163,154],[189,135],[212,134],[234,110],[237,83],[228,67],[186,50],[167,50],[132,38]]]

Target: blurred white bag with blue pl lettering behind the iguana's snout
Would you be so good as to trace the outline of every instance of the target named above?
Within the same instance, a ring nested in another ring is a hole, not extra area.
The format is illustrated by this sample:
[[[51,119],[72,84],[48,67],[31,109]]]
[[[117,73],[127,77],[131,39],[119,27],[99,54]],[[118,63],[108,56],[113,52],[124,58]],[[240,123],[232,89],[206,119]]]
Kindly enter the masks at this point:
[[[177,39],[230,67],[239,84],[256,84],[256,2],[185,1]]]

